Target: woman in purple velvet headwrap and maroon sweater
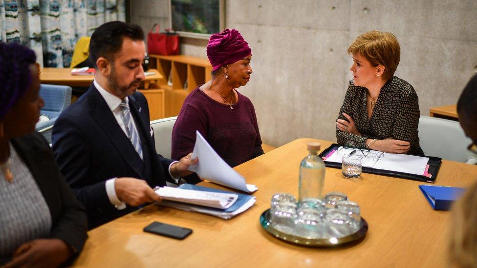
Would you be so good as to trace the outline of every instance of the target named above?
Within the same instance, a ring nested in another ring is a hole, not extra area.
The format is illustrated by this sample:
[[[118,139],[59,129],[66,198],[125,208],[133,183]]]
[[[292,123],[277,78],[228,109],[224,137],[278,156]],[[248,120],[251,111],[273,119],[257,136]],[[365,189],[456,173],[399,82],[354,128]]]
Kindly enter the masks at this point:
[[[212,79],[184,101],[172,133],[172,158],[194,149],[195,130],[230,166],[263,154],[252,102],[236,89],[250,81],[252,50],[239,31],[212,35],[207,45]]]

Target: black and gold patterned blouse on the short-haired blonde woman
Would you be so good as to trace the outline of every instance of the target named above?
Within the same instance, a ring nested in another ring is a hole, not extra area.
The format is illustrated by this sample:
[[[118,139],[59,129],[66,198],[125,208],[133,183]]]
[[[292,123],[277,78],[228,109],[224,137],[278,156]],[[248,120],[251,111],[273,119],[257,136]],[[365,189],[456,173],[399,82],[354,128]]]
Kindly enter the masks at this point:
[[[393,76],[381,88],[371,118],[367,110],[368,89],[355,86],[351,80],[341,106],[338,119],[347,120],[342,113],[353,118],[362,136],[336,129],[338,144],[353,142],[365,147],[367,139],[395,139],[411,143],[408,154],[424,155],[419,146],[419,101],[414,88],[408,82]]]

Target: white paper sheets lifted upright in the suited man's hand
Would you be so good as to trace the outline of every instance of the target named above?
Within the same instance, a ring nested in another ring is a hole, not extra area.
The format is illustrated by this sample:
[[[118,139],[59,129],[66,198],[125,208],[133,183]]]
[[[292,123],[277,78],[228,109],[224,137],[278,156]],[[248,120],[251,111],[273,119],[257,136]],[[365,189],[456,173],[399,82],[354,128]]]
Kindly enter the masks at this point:
[[[259,189],[255,185],[246,184],[245,178],[225,163],[198,131],[195,133],[197,138],[192,154],[199,158],[199,162],[189,166],[189,170],[213,183],[244,192],[251,193]]]

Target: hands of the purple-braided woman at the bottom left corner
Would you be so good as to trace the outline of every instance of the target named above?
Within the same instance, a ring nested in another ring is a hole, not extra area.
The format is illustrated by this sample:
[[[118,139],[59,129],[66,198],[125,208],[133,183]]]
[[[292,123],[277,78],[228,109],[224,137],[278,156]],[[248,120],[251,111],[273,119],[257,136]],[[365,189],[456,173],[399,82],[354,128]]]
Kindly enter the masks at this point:
[[[71,249],[60,239],[36,239],[18,247],[12,261],[4,267],[58,267],[71,254]]]

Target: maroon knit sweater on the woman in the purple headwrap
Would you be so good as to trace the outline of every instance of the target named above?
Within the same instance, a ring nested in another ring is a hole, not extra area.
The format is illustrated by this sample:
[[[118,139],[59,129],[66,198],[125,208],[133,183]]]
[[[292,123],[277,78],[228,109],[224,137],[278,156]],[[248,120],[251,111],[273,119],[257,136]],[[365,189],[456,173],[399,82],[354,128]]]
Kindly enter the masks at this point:
[[[198,130],[230,166],[263,154],[257,116],[252,102],[242,94],[234,109],[218,103],[199,87],[182,104],[172,131],[172,159],[192,152]]]

